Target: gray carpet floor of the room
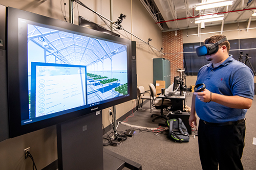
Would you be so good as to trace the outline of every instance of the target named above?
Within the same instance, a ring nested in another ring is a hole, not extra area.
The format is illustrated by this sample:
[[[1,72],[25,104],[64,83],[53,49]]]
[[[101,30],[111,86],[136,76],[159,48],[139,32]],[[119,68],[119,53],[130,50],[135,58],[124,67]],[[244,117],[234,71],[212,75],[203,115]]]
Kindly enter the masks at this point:
[[[186,105],[191,106],[191,93],[188,93]],[[253,137],[256,137],[256,101],[253,101],[252,107],[246,114],[246,137],[245,148],[242,157],[244,169],[256,169],[256,145],[252,144]],[[156,119],[152,122],[151,114],[159,114],[160,110],[155,108],[150,112],[150,102],[145,103],[134,116],[127,118],[127,124],[159,128],[159,123],[164,123],[164,119]],[[168,112],[165,110],[165,114]],[[126,119],[122,120],[122,122]],[[133,129],[122,124],[118,125],[117,131],[125,132],[127,129]],[[198,140],[195,131],[192,131],[189,142],[178,143],[167,138],[165,132],[140,131],[136,130],[132,137],[128,137],[125,141],[116,147],[111,145],[104,148],[115,152],[127,159],[142,165],[144,170],[167,170],[167,169],[202,169],[199,153]],[[107,132],[110,134],[113,131]],[[106,135],[104,135],[106,136]],[[128,168],[123,168],[128,169]]]

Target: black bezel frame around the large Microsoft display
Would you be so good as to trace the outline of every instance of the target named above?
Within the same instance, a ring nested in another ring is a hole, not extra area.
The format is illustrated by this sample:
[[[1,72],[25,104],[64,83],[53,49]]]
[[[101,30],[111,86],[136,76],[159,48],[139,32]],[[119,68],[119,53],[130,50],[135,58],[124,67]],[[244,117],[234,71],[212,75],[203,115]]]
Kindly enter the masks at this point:
[[[127,45],[127,81],[129,96],[113,100],[106,100],[105,103],[71,113],[59,115],[39,122],[23,125],[21,124],[21,113],[26,111],[21,107],[24,101],[28,101],[28,90],[20,88],[21,83],[27,83],[27,70],[22,68],[27,67],[27,61],[19,58],[18,51],[26,47],[26,43],[18,42],[18,18],[34,21],[43,25],[54,26],[63,30],[69,30],[74,33],[81,33],[92,38],[108,40],[116,43]],[[132,100],[132,47],[131,41],[119,38],[113,35],[101,33],[95,30],[83,28],[69,22],[58,19],[49,18],[46,16],[34,14],[31,12],[7,8],[7,77],[8,77],[8,112],[9,112],[9,127],[10,137],[16,137],[29,132],[33,132],[42,128],[56,125],[67,120],[86,115],[95,111],[99,111],[123,102]],[[20,98],[23,96],[23,98]]]

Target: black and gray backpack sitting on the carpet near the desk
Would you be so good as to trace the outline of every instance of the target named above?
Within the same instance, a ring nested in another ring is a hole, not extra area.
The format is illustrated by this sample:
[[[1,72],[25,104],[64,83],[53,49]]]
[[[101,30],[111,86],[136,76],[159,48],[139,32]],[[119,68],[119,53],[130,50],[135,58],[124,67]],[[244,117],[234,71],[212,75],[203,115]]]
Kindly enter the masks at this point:
[[[188,142],[189,134],[181,118],[167,120],[169,126],[168,138],[175,142]]]

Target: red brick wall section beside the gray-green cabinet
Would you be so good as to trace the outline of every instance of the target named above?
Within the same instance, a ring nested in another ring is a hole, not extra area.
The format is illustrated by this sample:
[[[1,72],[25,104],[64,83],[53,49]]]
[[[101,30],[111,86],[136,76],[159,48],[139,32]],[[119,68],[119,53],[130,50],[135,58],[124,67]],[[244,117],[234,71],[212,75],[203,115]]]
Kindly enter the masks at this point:
[[[163,52],[164,58],[170,61],[170,82],[175,76],[180,76],[178,68],[183,68],[183,32],[182,30],[163,32]]]

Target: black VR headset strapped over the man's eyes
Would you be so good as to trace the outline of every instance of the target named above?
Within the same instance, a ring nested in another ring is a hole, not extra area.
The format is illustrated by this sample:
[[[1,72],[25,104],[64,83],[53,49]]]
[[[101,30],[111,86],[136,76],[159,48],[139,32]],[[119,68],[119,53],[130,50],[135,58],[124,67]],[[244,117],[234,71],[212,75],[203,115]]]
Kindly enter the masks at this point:
[[[221,39],[218,42],[215,42],[214,44],[212,44],[212,43],[208,44],[208,40],[206,40],[204,45],[196,48],[198,57],[217,53],[219,50],[218,45],[220,45],[224,41],[227,41],[226,37]]]

